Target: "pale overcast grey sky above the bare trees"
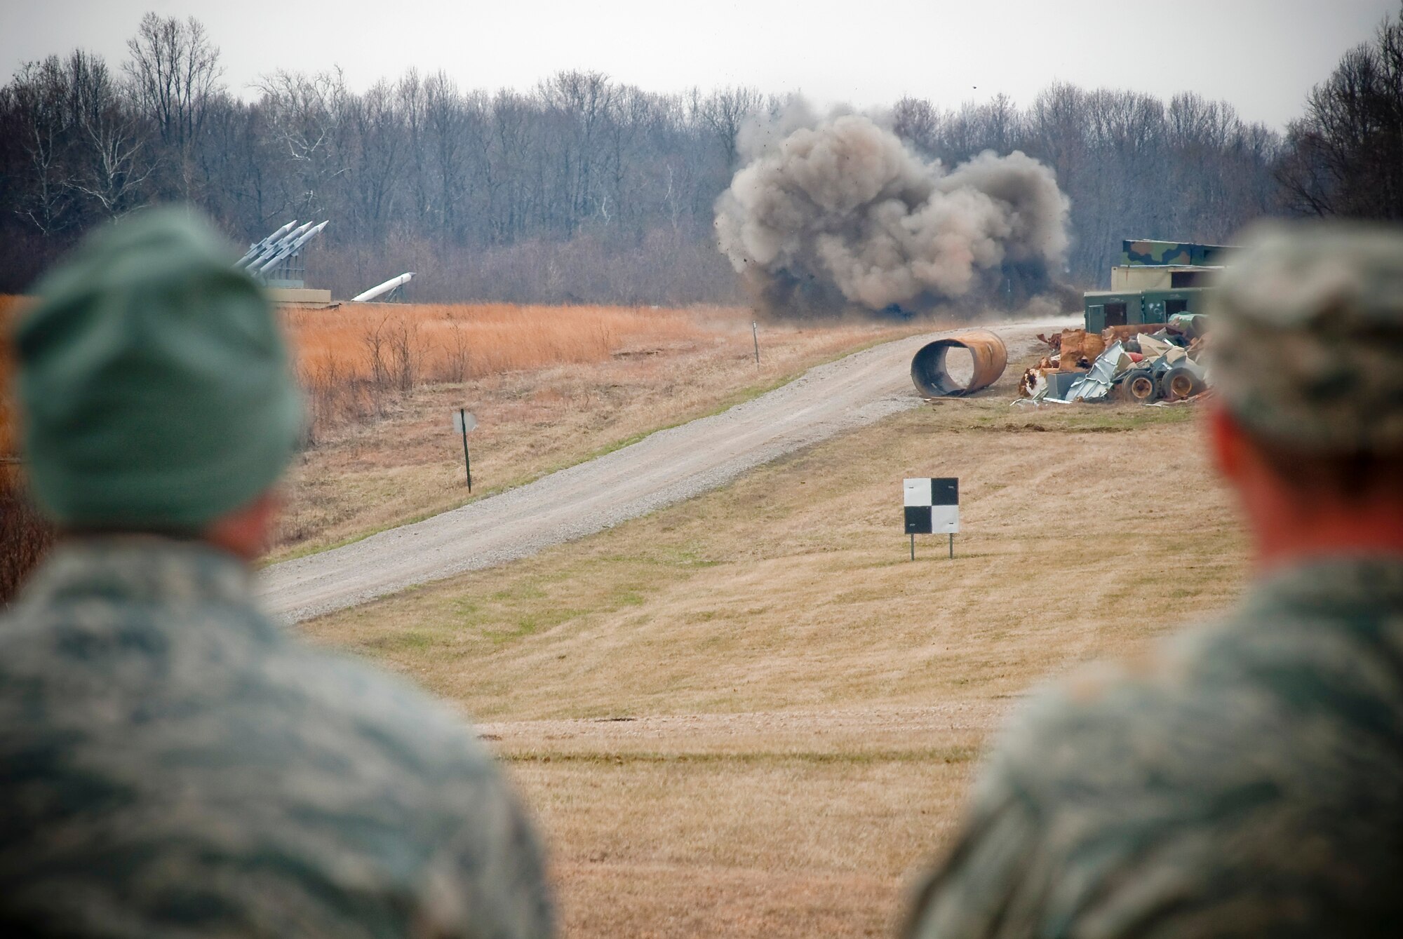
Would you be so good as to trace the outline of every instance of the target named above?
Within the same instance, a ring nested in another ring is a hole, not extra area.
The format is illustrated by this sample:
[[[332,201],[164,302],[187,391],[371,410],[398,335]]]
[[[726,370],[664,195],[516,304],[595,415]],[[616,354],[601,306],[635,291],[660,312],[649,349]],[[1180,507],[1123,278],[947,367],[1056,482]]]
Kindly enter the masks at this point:
[[[560,69],[596,69],[651,91],[751,84],[857,107],[904,94],[955,107],[1000,91],[1027,104],[1065,80],[1198,91],[1282,128],[1399,0],[0,0],[0,10],[6,78],[74,46],[115,64],[154,10],[201,20],[224,81],[246,97],[272,69],[334,64],[356,90],[410,66],[522,90]]]

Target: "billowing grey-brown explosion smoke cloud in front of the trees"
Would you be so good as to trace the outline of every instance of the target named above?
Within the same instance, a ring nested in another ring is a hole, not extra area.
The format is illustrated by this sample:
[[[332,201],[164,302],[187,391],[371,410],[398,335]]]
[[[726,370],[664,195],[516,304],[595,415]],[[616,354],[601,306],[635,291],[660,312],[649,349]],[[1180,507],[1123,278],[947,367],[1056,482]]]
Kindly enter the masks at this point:
[[[741,139],[717,242],[776,311],[927,310],[1048,290],[1068,248],[1052,170],[985,151],[947,171],[891,130],[803,107]]]

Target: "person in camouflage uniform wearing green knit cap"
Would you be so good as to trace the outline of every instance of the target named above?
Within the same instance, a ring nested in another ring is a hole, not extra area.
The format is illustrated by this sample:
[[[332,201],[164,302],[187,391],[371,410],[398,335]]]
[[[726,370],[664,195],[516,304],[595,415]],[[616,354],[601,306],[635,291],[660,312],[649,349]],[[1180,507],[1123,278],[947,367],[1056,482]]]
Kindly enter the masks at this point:
[[[164,210],[39,293],[25,448],[66,534],[0,622],[0,935],[550,935],[462,720],[254,603],[303,418],[253,280]]]

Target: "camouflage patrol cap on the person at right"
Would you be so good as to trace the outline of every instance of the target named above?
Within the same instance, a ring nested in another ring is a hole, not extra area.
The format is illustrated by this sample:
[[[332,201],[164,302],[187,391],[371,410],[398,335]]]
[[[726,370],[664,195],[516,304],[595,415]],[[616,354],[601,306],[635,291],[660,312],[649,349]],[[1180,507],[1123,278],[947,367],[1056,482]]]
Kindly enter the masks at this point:
[[[1303,451],[1403,448],[1403,228],[1257,226],[1209,310],[1214,384],[1246,429]]]

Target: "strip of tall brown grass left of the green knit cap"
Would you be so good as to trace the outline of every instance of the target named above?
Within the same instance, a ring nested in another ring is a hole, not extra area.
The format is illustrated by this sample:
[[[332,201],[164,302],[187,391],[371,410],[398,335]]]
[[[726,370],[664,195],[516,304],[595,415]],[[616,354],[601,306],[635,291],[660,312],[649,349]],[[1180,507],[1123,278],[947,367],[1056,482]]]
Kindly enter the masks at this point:
[[[53,528],[29,505],[18,462],[18,411],[10,335],[24,299],[0,294],[0,610],[53,542]]]

